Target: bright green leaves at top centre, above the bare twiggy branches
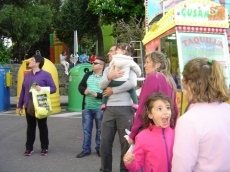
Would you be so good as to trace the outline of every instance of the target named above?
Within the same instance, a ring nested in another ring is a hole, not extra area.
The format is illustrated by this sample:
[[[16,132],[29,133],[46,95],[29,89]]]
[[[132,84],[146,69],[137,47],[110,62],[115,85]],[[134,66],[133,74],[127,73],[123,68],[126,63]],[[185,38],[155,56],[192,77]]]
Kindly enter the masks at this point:
[[[90,0],[88,10],[101,17],[103,24],[116,23],[123,19],[130,20],[130,16],[144,18],[144,0]]]

